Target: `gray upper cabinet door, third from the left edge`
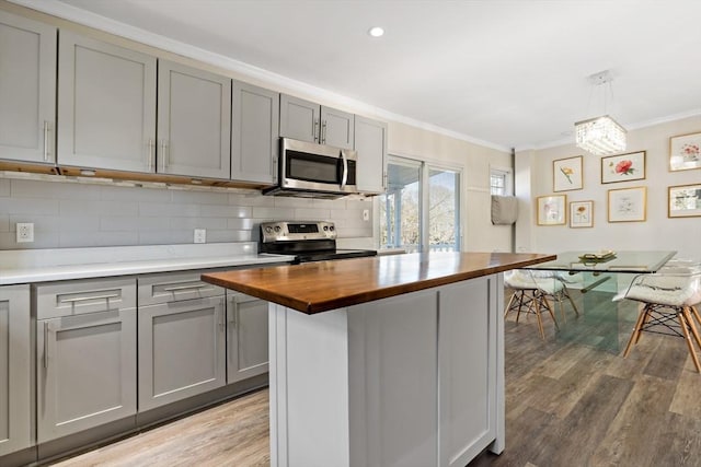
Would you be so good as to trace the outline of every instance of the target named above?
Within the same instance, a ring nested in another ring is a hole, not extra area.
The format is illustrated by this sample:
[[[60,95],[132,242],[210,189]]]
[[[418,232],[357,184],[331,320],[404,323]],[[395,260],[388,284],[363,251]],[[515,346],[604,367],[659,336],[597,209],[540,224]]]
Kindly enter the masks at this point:
[[[231,79],[158,65],[158,173],[229,179]]]

